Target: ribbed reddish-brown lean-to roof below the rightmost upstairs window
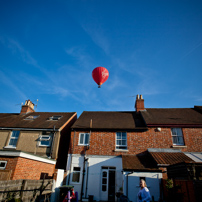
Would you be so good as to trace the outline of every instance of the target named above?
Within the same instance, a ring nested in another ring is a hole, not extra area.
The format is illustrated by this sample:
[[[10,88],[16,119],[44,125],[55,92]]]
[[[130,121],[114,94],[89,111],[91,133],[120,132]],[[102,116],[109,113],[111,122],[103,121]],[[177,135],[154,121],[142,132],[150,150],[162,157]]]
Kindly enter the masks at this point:
[[[181,162],[193,162],[182,152],[149,152],[158,165],[172,165]]]

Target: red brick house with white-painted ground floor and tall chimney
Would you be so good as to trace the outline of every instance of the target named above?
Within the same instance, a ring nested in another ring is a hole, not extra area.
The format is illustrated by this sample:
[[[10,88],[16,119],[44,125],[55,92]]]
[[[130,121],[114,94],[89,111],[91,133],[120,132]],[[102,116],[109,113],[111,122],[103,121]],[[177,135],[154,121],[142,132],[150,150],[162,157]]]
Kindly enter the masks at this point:
[[[183,152],[202,152],[201,107],[147,109],[137,96],[135,111],[84,111],[72,126],[67,184],[80,199],[114,201],[123,189],[136,201],[139,180],[160,197],[167,166],[191,162]]]

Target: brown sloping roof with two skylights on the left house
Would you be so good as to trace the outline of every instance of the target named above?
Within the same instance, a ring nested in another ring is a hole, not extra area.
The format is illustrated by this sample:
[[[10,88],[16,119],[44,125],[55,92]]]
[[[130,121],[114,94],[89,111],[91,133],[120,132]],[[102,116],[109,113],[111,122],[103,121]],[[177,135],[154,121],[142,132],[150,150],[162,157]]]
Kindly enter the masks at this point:
[[[0,113],[0,128],[26,129],[59,129],[76,112],[30,112],[27,114]],[[29,116],[38,116],[34,120],[26,120]],[[52,116],[61,116],[59,120],[50,120]]]

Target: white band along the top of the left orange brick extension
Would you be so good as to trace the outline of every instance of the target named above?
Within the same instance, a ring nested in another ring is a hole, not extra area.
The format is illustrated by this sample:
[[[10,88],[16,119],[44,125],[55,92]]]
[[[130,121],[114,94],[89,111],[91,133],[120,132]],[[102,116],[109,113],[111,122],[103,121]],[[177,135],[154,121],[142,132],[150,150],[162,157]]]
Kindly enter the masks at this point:
[[[0,155],[1,156],[12,156],[12,157],[22,157],[22,158],[31,159],[34,161],[40,161],[43,163],[49,163],[49,164],[53,164],[53,165],[56,164],[55,160],[36,156],[34,154],[25,153],[22,151],[0,151]]]

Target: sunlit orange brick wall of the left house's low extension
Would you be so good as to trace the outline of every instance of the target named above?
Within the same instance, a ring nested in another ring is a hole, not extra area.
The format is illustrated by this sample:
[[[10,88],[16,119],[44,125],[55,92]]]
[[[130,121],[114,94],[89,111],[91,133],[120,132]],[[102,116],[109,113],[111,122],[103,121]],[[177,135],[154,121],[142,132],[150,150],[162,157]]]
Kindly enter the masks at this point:
[[[12,170],[11,180],[39,180],[42,173],[52,176],[55,169],[55,165],[22,157],[0,157],[0,160],[7,161],[6,170]]]

